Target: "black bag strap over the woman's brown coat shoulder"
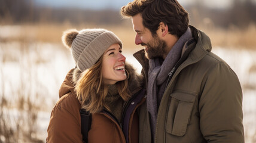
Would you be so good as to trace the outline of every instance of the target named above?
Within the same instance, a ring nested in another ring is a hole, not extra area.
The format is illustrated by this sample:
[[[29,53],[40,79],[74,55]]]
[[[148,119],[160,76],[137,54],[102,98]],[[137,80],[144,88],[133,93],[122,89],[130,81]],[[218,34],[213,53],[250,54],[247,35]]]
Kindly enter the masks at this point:
[[[80,109],[80,115],[81,115],[81,132],[83,135],[83,141],[87,143],[88,132],[92,124],[92,114],[90,114],[89,111]]]

